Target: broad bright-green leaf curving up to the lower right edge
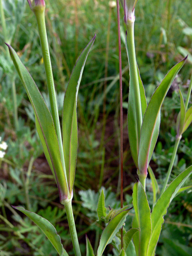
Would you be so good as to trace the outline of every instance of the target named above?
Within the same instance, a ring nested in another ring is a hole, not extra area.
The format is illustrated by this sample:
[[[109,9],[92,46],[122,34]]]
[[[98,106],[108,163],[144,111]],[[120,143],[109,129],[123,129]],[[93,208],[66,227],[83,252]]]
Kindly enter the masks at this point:
[[[183,171],[179,176],[177,176],[172,183],[167,187],[164,193],[156,202],[153,211],[151,213],[151,222],[152,222],[152,235],[149,241],[147,256],[151,256],[154,253],[156,244],[158,242],[161,227],[164,222],[163,216],[167,212],[167,208],[170,205],[170,202],[175,197],[180,187],[183,185],[185,180],[192,174],[192,166]]]

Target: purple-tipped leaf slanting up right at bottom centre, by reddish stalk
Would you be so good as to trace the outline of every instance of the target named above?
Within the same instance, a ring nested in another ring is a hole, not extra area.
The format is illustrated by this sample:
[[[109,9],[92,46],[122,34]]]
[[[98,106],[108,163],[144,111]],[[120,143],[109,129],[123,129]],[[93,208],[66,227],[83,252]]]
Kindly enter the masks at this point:
[[[112,220],[110,220],[106,228],[103,230],[97,250],[97,256],[102,256],[105,247],[112,242],[115,234],[123,226],[129,210],[130,209],[123,210],[118,213]]]

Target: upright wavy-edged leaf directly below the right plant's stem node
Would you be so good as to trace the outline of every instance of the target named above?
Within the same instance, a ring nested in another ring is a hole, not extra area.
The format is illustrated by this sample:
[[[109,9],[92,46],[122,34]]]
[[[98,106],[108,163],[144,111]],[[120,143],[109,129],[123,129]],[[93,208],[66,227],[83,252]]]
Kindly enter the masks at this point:
[[[147,196],[141,182],[138,181],[133,187],[133,207],[135,216],[132,228],[139,228],[140,231],[133,236],[133,243],[137,256],[146,256],[148,243],[151,237],[151,210]]]

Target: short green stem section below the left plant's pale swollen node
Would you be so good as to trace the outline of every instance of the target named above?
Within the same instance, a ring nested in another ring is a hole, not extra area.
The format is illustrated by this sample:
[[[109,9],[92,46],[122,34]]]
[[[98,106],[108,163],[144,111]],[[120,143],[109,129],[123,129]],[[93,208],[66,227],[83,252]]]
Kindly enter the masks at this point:
[[[64,206],[65,206],[65,210],[67,213],[67,220],[69,223],[69,230],[71,233],[71,239],[72,239],[73,248],[75,251],[75,256],[81,256],[81,252],[80,252],[80,248],[79,248],[79,241],[77,238],[77,231],[75,228],[75,221],[74,221],[74,217],[73,217],[73,209],[72,209],[71,199],[65,200]]]

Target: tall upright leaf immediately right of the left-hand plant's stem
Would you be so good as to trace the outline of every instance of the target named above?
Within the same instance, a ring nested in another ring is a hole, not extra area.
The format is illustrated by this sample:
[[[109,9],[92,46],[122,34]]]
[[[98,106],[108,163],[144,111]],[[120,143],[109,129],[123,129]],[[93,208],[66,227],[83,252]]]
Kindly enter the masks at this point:
[[[83,50],[79,59],[77,60],[77,63],[75,64],[75,67],[73,68],[63,102],[63,152],[65,159],[65,168],[67,172],[67,183],[70,193],[73,189],[75,167],[77,161],[77,94],[85,61],[94,43],[95,37],[96,35]]]

